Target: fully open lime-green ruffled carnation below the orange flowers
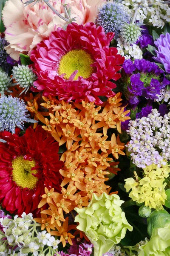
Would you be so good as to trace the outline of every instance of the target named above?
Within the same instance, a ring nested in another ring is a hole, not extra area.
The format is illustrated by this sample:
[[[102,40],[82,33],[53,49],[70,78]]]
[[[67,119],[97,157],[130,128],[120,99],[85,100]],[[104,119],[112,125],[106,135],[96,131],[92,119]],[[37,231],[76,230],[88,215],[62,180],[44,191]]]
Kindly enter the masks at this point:
[[[125,237],[127,229],[133,230],[120,207],[123,202],[116,194],[93,194],[88,207],[75,208],[79,213],[75,218],[77,229],[94,244],[94,256],[102,256]]]

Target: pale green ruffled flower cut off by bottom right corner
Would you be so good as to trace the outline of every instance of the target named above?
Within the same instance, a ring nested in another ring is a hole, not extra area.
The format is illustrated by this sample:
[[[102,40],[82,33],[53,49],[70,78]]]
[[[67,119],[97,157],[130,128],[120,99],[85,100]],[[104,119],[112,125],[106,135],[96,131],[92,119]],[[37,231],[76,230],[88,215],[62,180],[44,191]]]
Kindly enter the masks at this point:
[[[170,256],[170,225],[154,230],[150,241],[139,249],[138,256]]]

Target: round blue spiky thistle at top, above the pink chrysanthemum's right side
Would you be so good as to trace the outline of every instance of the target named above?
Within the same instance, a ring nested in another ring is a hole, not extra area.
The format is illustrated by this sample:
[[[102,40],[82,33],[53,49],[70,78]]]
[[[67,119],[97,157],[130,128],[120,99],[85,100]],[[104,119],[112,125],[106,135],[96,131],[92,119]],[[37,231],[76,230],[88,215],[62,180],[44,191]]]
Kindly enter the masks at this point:
[[[96,17],[96,25],[102,26],[105,32],[115,32],[119,34],[119,30],[124,22],[128,22],[130,16],[127,14],[125,6],[121,3],[106,3],[99,9]]]

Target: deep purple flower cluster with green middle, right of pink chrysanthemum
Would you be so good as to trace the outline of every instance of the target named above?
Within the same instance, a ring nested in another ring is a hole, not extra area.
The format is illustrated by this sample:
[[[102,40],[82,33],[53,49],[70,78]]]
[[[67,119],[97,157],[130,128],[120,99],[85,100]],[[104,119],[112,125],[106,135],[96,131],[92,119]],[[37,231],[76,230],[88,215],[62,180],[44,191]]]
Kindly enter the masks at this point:
[[[158,99],[161,89],[170,84],[165,77],[160,78],[164,71],[145,59],[136,59],[134,63],[130,59],[125,60],[123,68],[127,74],[128,84],[125,96],[131,105],[138,105],[141,97]]]

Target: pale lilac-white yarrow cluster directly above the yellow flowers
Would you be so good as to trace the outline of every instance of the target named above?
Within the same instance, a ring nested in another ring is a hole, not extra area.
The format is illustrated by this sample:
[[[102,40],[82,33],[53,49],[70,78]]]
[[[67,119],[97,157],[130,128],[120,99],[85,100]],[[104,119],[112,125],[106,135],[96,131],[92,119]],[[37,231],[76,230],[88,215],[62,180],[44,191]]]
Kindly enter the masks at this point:
[[[153,109],[147,117],[130,121],[129,126],[127,148],[136,166],[161,166],[166,164],[164,160],[170,160],[170,112],[162,117]]]

